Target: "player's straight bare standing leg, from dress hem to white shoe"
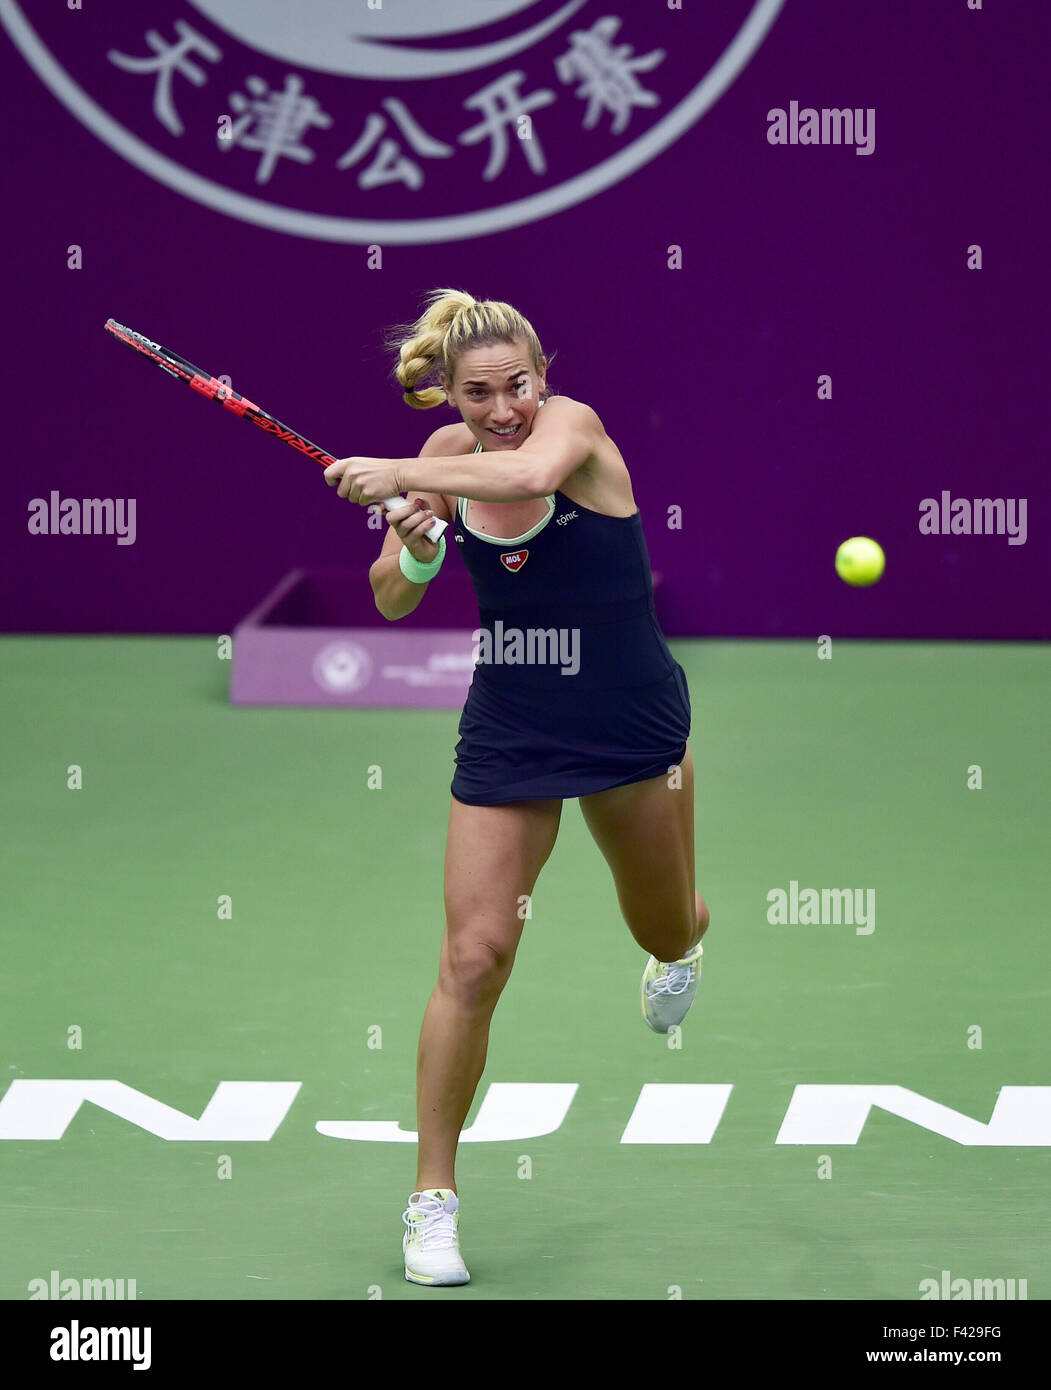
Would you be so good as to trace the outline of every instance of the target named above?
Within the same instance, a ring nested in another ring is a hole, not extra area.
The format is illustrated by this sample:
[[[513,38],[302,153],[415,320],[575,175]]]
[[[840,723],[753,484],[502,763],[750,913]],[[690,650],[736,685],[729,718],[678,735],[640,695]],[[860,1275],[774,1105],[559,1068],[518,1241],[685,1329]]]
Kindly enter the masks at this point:
[[[456,1191],[460,1130],[485,1066],[489,1022],[512,972],[530,895],[559,833],[562,802],[467,806],[453,798],[438,983],[417,1058],[416,1191]]]

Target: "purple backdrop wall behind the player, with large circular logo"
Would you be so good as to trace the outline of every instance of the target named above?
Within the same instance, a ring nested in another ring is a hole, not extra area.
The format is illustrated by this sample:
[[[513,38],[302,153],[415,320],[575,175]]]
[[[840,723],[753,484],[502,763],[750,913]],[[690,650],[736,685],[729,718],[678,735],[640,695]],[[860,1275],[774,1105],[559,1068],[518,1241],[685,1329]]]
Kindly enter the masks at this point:
[[[229,631],[299,566],[346,564],[371,607],[364,510],[103,324],[339,456],[399,457],[455,417],[402,403],[382,334],[453,285],[519,306],[552,386],[598,410],[670,637],[1051,637],[1051,7],[0,0],[0,21],[7,631]],[[792,103],[858,121],[772,143]],[[31,534],[51,492],[133,499],[133,543]],[[1025,499],[1025,543],[920,534],[943,492]],[[887,552],[872,589],[833,570],[858,534]]]

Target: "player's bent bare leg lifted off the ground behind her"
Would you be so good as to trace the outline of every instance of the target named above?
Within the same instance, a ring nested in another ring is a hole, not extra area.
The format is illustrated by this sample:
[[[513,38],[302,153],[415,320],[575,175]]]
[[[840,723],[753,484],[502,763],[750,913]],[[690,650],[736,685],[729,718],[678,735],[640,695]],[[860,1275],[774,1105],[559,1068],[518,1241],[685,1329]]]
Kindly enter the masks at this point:
[[[694,759],[677,770],[580,798],[613,872],[624,920],[658,960],[678,960],[708,930],[694,870]]]

